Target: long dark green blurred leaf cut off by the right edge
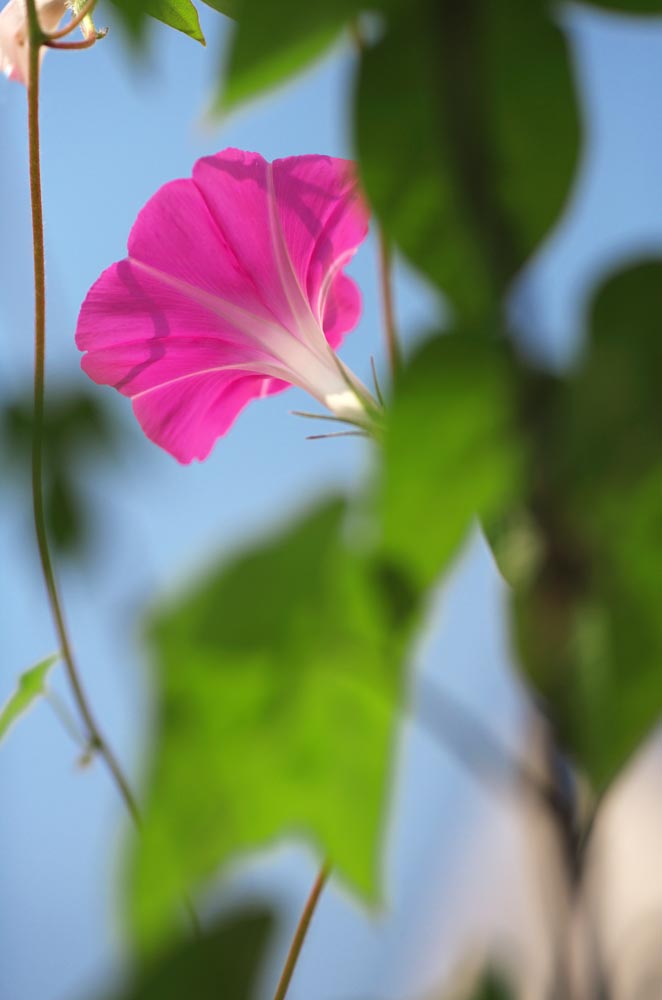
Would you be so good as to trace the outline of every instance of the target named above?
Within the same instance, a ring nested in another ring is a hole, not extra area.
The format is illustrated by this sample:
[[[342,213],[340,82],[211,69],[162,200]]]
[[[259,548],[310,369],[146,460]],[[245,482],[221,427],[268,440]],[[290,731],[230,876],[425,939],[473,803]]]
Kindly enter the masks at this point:
[[[662,714],[662,263],[612,279],[545,458],[550,539],[520,636],[562,742],[604,785]],[[534,497],[534,509],[536,501]]]

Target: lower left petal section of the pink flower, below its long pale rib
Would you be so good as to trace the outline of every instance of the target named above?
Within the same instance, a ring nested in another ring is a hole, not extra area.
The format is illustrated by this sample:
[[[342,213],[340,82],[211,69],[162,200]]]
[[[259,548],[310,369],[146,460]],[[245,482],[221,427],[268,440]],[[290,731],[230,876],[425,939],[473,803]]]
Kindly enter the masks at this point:
[[[133,397],[147,436],[191,462],[209,454],[251,399],[289,388],[242,370],[249,359],[265,366],[271,359],[250,344],[237,347],[231,326],[227,332],[225,339],[209,309],[125,260],[90,289],[76,343],[88,352],[83,370]]]

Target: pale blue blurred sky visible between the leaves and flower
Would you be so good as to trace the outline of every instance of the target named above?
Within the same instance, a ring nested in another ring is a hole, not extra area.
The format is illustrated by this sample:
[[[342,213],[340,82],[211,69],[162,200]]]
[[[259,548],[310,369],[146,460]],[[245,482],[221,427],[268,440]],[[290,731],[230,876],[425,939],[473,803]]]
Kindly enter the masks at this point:
[[[204,121],[227,44],[223,19],[201,4],[207,49],[155,26],[137,67],[111,24],[87,53],[49,54],[43,75],[43,172],[49,292],[49,389],[88,387],[73,331],[100,271],[122,257],[138,210],[201,155],[238,146],[273,159],[352,155],[347,116],[354,58],[340,46],[268,100],[227,121]],[[104,23],[105,11],[99,19]],[[567,212],[516,296],[531,349],[562,365],[581,343],[589,289],[605,268],[662,250],[662,24],[568,6],[586,143]],[[0,81],[0,394],[25,391],[32,370],[32,299],[25,93]],[[412,151],[415,155],[415,151]],[[369,378],[386,373],[372,239],[350,273],[364,296],[342,356]],[[443,316],[407,268],[395,283],[410,348]],[[78,470],[94,511],[91,551],[60,566],[71,632],[103,728],[134,784],[148,742],[143,609],[332,490],[369,472],[361,442],[304,440],[291,391],[250,406],[202,465],[182,467],[142,437],[128,403],[104,393],[121,427],[110,459]],[[0,479],[0,703],[16,676],[55,648],[30,534],[27,493]],[[524,700],[512,678],[505,590],[478,532],[430,609],[413,659],[499,733],[516,741]],[[53,686],[67,697],[61,675]],[[415,699],[414,699],[415,702]],[[414,709],[415,715],[415,709]],[[40,704],[0,752],[0,998],[92,1000],[121,969],[127,822],[103,766],[81,770],[75,746]],[[513,924],[526,901],[525,848],[502,802],[491,800],[420,726],[403,722],[384,845],[388,906],[371,918],[332,884],[304,952],[291,1000],[397,1000],[435,981],[480,897],[484,921]],[[481,831],[490,830],[490,857]],[[495,864],[494,859],[499,863]],[[287,946],[317,860],[284,843],[226,874],[220,899],[273,900]],[[484,898],[483,898],[484,897]],[[489,900],[499,900],[500,913]],[[537,918],[536,918],[537,919]],[[533,920],[535,924],[535,919]],[[278,955],[274,959],[279,961]],[[320,984],[324,985],[321,986]],[[265,998],[269,996],[268,984]]]

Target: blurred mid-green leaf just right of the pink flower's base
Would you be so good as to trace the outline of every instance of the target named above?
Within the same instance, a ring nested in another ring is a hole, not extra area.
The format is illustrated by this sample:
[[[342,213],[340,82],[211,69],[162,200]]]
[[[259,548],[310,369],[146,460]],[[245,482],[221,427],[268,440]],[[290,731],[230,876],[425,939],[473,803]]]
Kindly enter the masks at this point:
[[[476,516],[516,494],[522,455],[510,367],[500,345],[442,335],[414,357],[389,412],[384,544],[419,584],[432,582]]]

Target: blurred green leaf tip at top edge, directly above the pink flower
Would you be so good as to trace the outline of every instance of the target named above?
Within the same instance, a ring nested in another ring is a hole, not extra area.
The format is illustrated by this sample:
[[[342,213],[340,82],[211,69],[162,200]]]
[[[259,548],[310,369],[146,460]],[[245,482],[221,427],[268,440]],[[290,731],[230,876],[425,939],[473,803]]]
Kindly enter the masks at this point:
[[[359,6],[359,0],[240,0],[217,109],[227,111],[256,97],[317,59]]]

